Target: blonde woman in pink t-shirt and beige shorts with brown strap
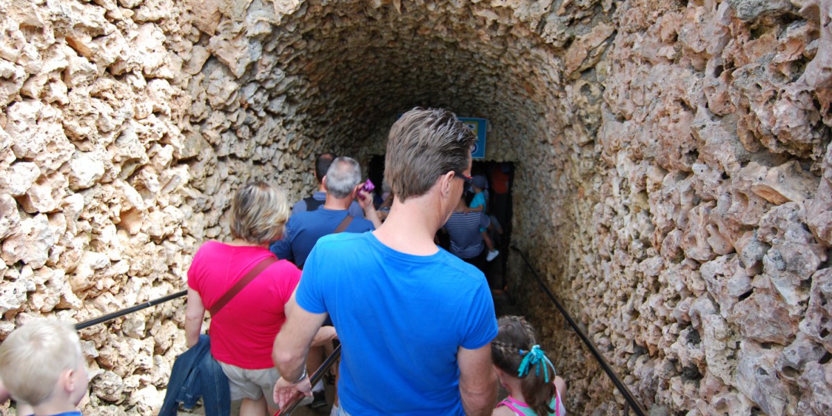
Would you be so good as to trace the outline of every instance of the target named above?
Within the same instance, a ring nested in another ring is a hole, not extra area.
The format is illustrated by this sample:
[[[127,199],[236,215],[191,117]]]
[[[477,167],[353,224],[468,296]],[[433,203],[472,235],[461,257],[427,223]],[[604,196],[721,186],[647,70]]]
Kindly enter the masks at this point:
[[[188,269],[188,347],[199,339],[206,309],[260,261],[274,257],[269,245],[280,240],[289,213],[283,192],[265,182],[250,182],[236,192],[230,212],[234,239],[206,241]],[[267,410],[274,414],[278,409],[272,389],[280,374],[271,350],[286,320],[285,304],[299,280],[295,265],[278,260],[211,316],[210,351],[228,376],[231,400],[243,400],[240,416],[261,416]],[[334,329],[328,331],[319,337],[333,339]]]

